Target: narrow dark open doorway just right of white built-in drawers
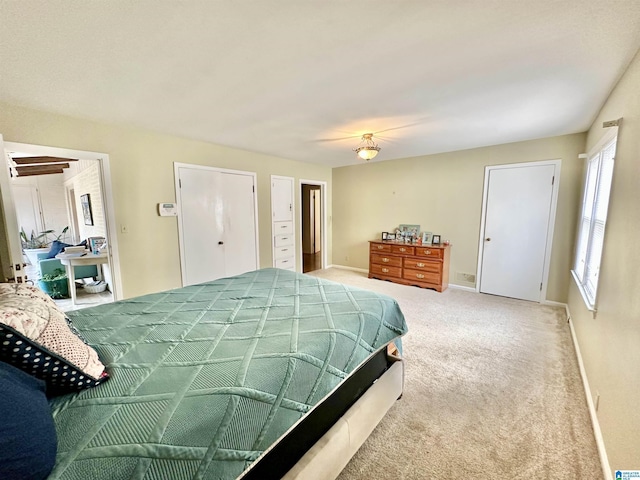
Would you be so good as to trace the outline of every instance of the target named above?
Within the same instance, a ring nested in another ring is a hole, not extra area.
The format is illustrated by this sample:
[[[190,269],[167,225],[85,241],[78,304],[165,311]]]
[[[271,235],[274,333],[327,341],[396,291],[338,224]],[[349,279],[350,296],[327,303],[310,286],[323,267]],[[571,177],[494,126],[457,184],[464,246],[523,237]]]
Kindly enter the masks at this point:
[[[324,202],[322,187],[301,182],[302,272],[313,272],[324,266]]]

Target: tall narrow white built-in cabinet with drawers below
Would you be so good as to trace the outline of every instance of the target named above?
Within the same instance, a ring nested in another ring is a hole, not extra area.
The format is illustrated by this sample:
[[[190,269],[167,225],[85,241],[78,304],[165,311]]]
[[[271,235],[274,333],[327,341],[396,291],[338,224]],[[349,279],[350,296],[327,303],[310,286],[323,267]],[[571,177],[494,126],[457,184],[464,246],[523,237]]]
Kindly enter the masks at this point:
[[[292,177],[271,176],[271,235],[273,266],[296,270]]]

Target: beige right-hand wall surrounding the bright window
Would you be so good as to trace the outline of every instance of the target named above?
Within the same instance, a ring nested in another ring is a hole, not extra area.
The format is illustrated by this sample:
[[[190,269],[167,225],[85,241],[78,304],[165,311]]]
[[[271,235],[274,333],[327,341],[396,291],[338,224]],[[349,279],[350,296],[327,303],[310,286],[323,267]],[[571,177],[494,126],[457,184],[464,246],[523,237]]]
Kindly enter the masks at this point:
[[[569,292],[612,470],[640,469],[640,53],[589,130],[588,148],[605,134],[603,121],[620,117],[596,318],[573,282]]]

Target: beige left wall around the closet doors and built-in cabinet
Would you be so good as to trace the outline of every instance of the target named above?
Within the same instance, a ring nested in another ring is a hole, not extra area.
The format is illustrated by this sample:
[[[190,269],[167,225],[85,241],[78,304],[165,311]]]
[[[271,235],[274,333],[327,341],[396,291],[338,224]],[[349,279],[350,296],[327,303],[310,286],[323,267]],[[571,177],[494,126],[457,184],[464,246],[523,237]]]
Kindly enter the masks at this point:
[[[162,135],[135,128],[89,122],[0,104],[5,141],[109,154],[125,297],[181,286],[177,220],[159,217],[160,202],[175,201],[173,162],[256,172],[260,266],[272,265],[270,175],[327,182],[331,169],[268,155]],[[296,193],[299,225],[300,193]],[[328,202],[331,215],[331,202]],[[126,225],[129,233],[120,233]],[[331,231],[328,232],[331,261]],[[299,250],[299,245],[296,245]],[[297,265],[301,269],[300,252]]]

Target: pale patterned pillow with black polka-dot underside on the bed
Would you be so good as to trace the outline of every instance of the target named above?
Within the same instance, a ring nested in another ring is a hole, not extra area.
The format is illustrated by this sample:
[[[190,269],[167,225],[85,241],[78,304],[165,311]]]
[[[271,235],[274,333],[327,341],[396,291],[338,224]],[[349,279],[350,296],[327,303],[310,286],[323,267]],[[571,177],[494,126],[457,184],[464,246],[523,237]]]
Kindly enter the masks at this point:
[[[109,378],[96,351],[69,324],[41,290],[0,284],[0,360],[43,379],[48,395],[94,387]]]

